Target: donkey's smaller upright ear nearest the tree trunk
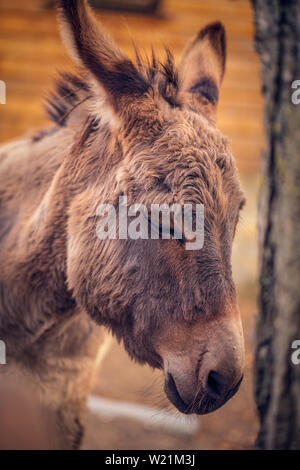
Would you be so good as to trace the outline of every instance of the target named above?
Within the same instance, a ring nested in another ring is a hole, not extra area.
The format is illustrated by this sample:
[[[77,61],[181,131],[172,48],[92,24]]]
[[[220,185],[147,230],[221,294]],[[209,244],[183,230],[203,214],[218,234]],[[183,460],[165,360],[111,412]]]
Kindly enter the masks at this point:
[[[186,48],[179,73],[183,101],[216,118],[226,61],[226,35],[220,22],[203,28]]]

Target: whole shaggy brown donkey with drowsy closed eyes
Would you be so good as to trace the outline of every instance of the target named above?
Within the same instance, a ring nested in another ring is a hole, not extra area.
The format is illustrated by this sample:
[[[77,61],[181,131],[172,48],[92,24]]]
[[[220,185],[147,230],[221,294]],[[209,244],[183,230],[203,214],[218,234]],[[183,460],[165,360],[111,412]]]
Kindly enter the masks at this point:
[[[206,26],[178,66],[167,50],[131,61],[86,1],[61,0],[62,38],[78,74],[62,74],[54,123],[0,149],[0,338],[56,430],[78,448],[104,331],[163,371],[182,413],[222,406],[243,376],[231,247],[244,195],[216,128],[225,31]],[[203,204],[204,245],[99,240],[97,207]]]

